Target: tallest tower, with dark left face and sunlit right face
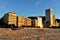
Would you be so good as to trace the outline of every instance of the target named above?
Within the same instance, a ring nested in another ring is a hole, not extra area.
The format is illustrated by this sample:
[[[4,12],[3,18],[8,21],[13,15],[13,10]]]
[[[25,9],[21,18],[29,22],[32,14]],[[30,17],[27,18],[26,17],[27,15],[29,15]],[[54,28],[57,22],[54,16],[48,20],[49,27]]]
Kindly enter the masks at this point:
[[[53,9],[52,8],[46,9],[45,16],[46,16],[46,27],[54,26],[55,17],[53,15]]]

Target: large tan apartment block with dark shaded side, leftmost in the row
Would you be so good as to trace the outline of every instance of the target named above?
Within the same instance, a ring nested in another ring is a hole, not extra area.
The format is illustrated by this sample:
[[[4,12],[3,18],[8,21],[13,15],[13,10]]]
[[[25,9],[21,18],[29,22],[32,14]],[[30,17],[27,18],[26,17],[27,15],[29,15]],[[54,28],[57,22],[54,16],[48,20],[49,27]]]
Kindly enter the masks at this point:
[[[8,25],[16,26],[16,14],[14,12],[8,12],[2,17],[3,21]]]

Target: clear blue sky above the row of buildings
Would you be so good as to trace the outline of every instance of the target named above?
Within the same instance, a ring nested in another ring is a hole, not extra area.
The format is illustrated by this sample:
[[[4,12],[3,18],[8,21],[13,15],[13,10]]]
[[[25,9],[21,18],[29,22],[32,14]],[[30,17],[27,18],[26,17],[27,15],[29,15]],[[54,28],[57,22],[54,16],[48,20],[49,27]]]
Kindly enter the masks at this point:
[[[15,12],[17,16],[45,16],[45,10],[53,9],[56,18],[60,18],[60,0],[0,0],[0,18]]]

